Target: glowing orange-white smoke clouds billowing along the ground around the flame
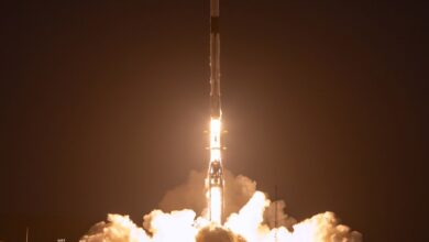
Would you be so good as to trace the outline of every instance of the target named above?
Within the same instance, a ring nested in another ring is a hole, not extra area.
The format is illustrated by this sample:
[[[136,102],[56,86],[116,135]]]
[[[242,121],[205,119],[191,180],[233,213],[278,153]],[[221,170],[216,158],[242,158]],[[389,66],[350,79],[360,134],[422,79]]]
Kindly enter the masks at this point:
[[[270,201],[256,184],[226,170],[226,213],[222,228],[212,227],[205,217],[205,172],[191,172],[188,180],[168,191],[162,210],[144,216],[143,227],[128,216],[109,215],[107,222],[95,224],[84,242],[361,242],[362,235],[340,224],[333,212],[316,215],[301,222],[285,213],[283,200]],[[183,209],[182,208],[190,208]],[[276,213],[277,212],[277,213]],[[277,224],[277,227],[276,227]]]

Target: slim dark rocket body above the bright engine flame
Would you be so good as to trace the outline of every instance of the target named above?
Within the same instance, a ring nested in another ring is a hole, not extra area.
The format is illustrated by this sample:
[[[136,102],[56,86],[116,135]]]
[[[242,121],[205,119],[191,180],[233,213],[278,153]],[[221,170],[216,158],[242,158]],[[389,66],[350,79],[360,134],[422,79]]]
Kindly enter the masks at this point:
[[[210,114],[220,118],[219,0],[210,0]]]

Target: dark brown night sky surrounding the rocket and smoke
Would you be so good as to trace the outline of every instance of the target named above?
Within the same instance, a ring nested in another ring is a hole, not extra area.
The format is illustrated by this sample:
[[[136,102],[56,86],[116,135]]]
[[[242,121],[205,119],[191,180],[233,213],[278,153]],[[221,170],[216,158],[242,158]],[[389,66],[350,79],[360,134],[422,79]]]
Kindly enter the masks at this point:
[[[221,0],[226,166],[277,185],[298,219],[422,241],[427,9],[315,2]],[[29,226],[76,241],[108,212],[140,223],[206,168],[208,0],[0,9],[0,240]]]

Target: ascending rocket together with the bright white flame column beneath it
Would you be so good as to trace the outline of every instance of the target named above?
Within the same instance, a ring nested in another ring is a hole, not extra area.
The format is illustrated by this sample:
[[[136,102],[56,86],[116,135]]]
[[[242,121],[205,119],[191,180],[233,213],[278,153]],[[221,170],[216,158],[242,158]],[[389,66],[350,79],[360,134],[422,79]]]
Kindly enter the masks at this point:
[[[207,174],[209,220],[221,226],[223,216],[222,111],[220,106],[219,0],[210,0],[210,163]]]

